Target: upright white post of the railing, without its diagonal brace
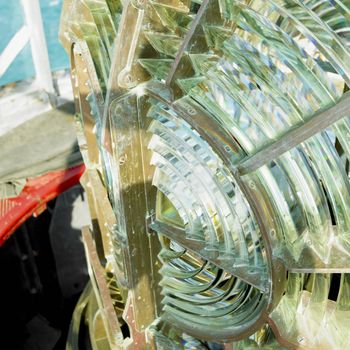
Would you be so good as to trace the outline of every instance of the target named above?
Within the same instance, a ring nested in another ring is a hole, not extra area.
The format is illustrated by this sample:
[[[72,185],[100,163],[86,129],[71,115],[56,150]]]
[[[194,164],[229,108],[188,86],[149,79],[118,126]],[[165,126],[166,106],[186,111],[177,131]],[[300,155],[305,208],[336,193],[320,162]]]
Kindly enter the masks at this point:
[[[22,7],[30,35],[37,84],[48,94],[55,94],[39,0],[22,0]]]

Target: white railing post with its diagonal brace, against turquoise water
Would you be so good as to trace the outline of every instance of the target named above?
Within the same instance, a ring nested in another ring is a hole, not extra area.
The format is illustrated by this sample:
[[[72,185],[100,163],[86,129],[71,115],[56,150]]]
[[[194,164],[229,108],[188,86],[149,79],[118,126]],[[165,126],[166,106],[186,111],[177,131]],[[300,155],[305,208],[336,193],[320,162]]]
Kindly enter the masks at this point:
[[[0,54],[0,77],[5,74],[17,55],[30,41],[35,84],[49,95],[55,95],[39,0],[21,0],[21,5],[25,25],[12,37]]]

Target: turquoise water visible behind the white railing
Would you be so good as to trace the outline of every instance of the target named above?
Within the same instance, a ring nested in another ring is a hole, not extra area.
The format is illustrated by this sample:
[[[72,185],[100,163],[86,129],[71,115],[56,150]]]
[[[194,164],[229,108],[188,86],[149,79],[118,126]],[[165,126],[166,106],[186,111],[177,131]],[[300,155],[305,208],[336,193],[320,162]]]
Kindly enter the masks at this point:
[[[69,59],[58,41],[63,0],[40,0],[46,42],[53,71],[69,67]],[[20,0],[0,0],[0,53],[24,24]],[[29,43],[0,78],[0,86],[35,76]]]

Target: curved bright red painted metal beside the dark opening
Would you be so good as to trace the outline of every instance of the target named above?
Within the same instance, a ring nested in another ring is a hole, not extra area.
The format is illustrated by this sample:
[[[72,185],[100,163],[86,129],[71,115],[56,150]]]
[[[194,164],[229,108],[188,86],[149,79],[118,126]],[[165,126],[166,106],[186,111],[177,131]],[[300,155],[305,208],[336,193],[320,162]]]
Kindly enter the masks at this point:
[[[19,196],[0,200],[0,246],[30,216],[40,215],[47,202],[77,184],[84,170],[82,164],[28,179]]]

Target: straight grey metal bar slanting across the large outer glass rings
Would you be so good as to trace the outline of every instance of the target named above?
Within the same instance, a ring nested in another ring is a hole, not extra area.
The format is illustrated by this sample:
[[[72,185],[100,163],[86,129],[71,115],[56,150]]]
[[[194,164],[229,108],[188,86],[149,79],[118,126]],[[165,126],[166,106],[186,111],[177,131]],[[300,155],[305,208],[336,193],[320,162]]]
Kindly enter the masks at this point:
[[[308,121],[288,131],[278,141],[244,159],[237,166],[238,174],[242,176],[259,169],[346,116],[350,116],[350,92],[345,93],[335,105],[321,110]]]

